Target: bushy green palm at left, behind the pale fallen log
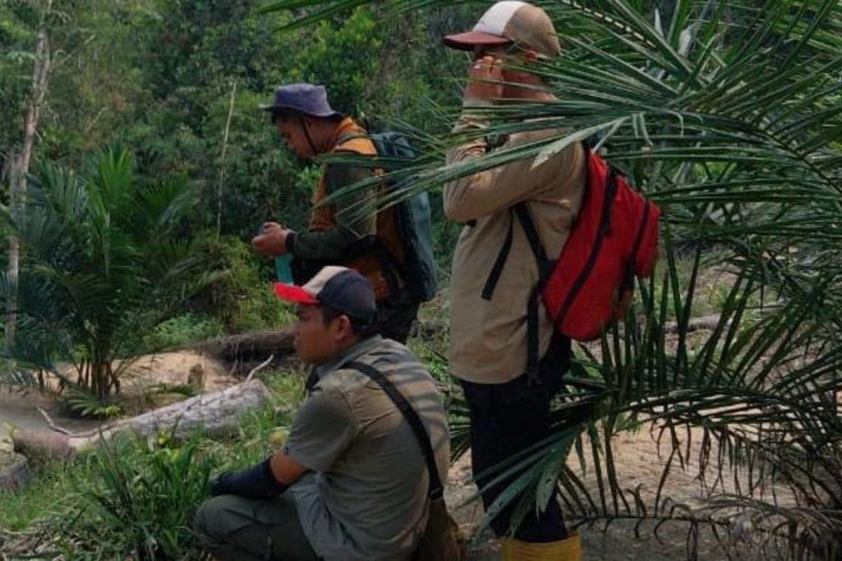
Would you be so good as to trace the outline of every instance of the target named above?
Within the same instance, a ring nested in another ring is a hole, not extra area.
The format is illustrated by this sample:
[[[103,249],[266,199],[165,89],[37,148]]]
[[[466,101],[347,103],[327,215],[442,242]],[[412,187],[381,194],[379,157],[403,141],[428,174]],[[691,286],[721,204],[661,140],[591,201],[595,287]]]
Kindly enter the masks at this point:
[[[17,368],[0,383],[48,371],[104,400],[120,391],[137,334],[216,278],[200,240],[179,231],[195,193],[183,178],[142,185],[127,151],[104,152],[81,176],[46,166],[31,183],[24,209],[2,209],[24,259],[18,283],[0,278],[4,296],[19,294]]]

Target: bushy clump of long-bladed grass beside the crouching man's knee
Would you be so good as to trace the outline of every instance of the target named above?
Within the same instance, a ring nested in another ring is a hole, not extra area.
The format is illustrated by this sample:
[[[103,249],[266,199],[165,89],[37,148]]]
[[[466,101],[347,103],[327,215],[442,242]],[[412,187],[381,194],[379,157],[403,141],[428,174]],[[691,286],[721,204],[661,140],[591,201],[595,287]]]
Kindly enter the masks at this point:
[[[133,438],[91,454],[85,476],[72,477],[77,512],[63,517],[56,546],[72,558],[200,558],[191,523],[215,461],[199,442]]]

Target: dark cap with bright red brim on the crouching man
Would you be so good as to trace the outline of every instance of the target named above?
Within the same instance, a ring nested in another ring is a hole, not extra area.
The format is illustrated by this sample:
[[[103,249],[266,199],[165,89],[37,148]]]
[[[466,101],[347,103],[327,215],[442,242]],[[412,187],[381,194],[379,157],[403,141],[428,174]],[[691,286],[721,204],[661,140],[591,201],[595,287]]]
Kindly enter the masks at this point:
[[[296,304],[323,304],[367,324],[373,324],[377,316],[371,284],[347,267],[323,267],[303,286],[275,283],[274,294]]]

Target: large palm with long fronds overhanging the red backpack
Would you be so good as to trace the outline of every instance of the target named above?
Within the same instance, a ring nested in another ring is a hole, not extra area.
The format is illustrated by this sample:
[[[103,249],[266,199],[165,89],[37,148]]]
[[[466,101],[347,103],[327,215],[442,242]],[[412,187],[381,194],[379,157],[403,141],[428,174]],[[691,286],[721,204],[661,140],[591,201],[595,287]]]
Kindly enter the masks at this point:
[[[360,3],[280,0],[268,9],[312,8],[306,22]],[[626,320],[578,346],[552,436],[476,475],[480,485],[506,486],[490,511],[512,501],[520,516],[540,511],[557,486],[580,522],[685,522],[691,557],[704,526],[722,542],[748,533],[760,548],[785,543],[794,558],[839,558],[842,6],[537,3],[562,31],[563,56],[539,69],[557,99],[489,105],[493,124],[480,134],[556,133],[449,166],[444,149],[465,138],[432,139],[421,159],[384,177],[400,186],[384,204],[507,161],[538,166],[589,140],[662,206],[663,259],[638,283]],[[445,4],[388,3],[397,11]],[[679,273],[681,260],[689,273]],[[710,267],[733,282],[717,319],[694,332],[700,272]],[[453,423],[455,437],[465,423]],[[668,458],[648,492],[623,488],[612,447],[639,426],[658,435]],[[695,508],[663,495],[670,472],[687,465],[690,435],[701,438],[707,495]],[[588,466],[587,480],[570,458]]]

